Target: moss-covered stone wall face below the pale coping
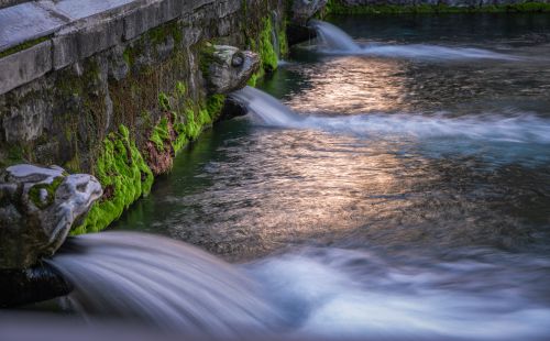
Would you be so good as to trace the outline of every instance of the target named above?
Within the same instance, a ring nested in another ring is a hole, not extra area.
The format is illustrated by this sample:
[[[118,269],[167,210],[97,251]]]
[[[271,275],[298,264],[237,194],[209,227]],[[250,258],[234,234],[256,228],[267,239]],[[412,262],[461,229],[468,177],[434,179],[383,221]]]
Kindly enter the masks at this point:
[[[105,229],[218,120],[224,95],[206,89],[207,43],[260,53],[261,77],[287,51],[285,13],[278,1],[207,2],[0,95],[0,167],[57,164],[95,175],[103,197],[74,233]]]

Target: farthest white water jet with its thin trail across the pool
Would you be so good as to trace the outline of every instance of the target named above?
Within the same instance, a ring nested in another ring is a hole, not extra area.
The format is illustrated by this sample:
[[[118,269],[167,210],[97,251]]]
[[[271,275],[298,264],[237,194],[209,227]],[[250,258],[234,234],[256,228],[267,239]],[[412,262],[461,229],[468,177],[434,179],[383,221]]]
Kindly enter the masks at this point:
[[[518,61],[520,57],[488,50],[473,47],[446,47],[428,44],[362,46],[341,29],[323,21],[314,20],[310,25],[317,31],[321,42],[321,52],[328,54],[371,55],[418,59],[501,59]]]

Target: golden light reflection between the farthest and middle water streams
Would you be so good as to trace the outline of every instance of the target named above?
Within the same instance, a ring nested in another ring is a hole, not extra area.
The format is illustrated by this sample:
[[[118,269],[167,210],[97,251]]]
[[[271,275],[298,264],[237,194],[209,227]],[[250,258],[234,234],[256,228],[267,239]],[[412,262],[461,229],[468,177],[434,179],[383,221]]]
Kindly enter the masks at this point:
[[[393,112],[406,108],[405,63],[367,57],[339,57],[298,72],[310,89],[287,102],[299,112]]]

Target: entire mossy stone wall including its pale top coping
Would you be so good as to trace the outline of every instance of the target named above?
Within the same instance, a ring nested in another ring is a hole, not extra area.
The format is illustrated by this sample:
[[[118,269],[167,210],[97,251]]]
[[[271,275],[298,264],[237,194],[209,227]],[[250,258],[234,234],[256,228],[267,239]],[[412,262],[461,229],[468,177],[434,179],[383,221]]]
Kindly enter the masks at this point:
[[[77,233],[117,219],[221,112],[211,44],[284,52],[278,0],[56,0],[0,10],[0,167],[94,174],[103,197]]]

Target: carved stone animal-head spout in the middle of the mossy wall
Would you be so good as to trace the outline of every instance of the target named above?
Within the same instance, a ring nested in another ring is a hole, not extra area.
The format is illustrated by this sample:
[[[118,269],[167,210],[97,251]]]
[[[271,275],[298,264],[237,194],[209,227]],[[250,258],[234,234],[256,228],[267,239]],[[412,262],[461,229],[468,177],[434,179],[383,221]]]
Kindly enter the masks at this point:
[[[246,85],[260,67],[260,57],[250,51],[208,44],[202,51],[202,73],[210,94],[229,94]]]

